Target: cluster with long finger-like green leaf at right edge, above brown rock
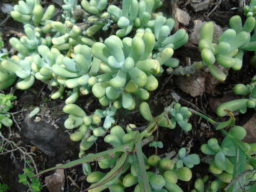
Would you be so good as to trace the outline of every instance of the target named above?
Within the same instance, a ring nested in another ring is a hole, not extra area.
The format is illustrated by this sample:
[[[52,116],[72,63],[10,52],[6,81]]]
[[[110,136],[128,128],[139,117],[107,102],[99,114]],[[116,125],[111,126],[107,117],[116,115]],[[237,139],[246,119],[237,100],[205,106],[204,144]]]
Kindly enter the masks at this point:
[[[231,112],[239,111],[239,113],[246,113],[247,108],[256,109],[256,76],[252,78],[252,82],[250,84],[237,84],[233,87],[233,91],[237,95],[242,95],[243,98],[235,99],[232,101],[228,101],[219,105],[216,109],[216,113],[218,116],[227,115],[224,109],[227,109]]]

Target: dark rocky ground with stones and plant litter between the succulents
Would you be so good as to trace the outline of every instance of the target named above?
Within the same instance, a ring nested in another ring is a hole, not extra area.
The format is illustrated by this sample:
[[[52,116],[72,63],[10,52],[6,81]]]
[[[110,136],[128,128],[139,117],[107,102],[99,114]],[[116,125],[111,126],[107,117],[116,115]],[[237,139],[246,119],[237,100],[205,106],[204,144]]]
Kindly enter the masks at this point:
[[[61,0],[43,0],[42,2],[45,5],[53,3],[59,7],[58,11],[61,10]],[[211,20],[216,23],[215,39],[217,39],[222,33],[222,29],[228,26],[229,18],[235,14],[242,13],[237,0],[180,0],[177,4],[173,4],[173,9],[170,2],[175,1],[164,1],[162,11],[169,15],[175,15],[176,13],[178,20],[176,28],[185,28],[190,35],[190,41],[175,51],[174,55],[174,57],[181,60],[181,65],[183,66],[191,65],[194,61],[201,60],[197,44],[198,29],[202,22]],[[19,37],[23,33],[20,23],[9,18],[6,6],[13,3],[15,1],[11,0],[0,2],[0,30],[6,40],[5,46],[7,48],[10,48],[7,42],[10,37]],[[4,21],[6,18],[8,19]],[[14,50],[11,49],[10,54],[14,53]],[[161,113],[164,107],[169,105],[174,98],[179,99],[179,102],[184,106],[203,111],[204,114],[217,118],[214,110],[219,103],[237,98],[231,91],[232,87],[237,83],[249,83],[251,77],[255,74],[255,69],[249,66],[248,58],[250,58],[250,55],[246,54],[243,68],[239,71],[230,70],[227,80],[221,83],[216,81],[206,69],[190,76],[170,77],[170,75],[164,74],[159,77],[161,79],[159,82],[162,83],[159,84],[156,91],[151,93],[151,97],[148,100],[153,110],[153,115]],[[8,89],[4,93],[9,93],[10,91]],[[28,153],[35,154],[33,158],[38,170],[44,170],[47,167],[77,159],[79,145],[69,139],[69,132],[63,126],[63,122],[67,118],[67,115],[62,113],[62,108],[65,105],[63,100],[51,100],[49,97],[51,91],[41,82],[36,82],[33,88],[27,91],[15,90],[13,87],[12,92],[17,96],[12,112],[22,110],[21,113],[14,115],[20,130],[17,124],[14,124],[10,130],[4,127],[2,132],[5,137],[17,143],[18,146],[25,148]],[[80,97],[77,103],[86,109],[87,114],[100,108],[98,101],[92,95]],[[36,117],[29,118],[29,111],[35,107],[41,109],[40,113]],[[256,116],[253,112],[249,110],[246,115],[236,116],[237,124],[244,125],[249,131],[246,137],[248,142],[255,140],[256,130],[254,125]],[[117,124],[119,125],[133,123],[141,126],[146,123],[139,114],[138,109],[132,112],[121,110],[116,119],[118,119]],[[219,139],[222,138],[221,134],[213,132],[209,124],[199,117],[193,116],[190,123],[193,124],[193,130],[188,133],[180,129],[160,129],[158,140],[163,142],[164,148],[158,149],[157,153],[168,153],[171,150],[179,149],[181,146],[187,146],[191,152],[201,155],[200,146],[202,143],[205,143],[213,136]],[[102,140],[99,139],[88,153],[96,153],[106,149],[104,148],[106,145],[101,145],[101,143]],[[145,151],[146,155],[155,153],[154,148],[148,147]],[[0,155],[0,181],[7,183],[12,192],[23,192],[28,189],[28,187],[18,182],[18,174],[23,173],[24,162],[22,159],[18,150]],[[207,169],[202,169],[203,166],[206,167],[207,165],[201,163],[199,166],[195,166],[193,169],[194,175],[202,176],[206,174],[207,172],[202,172],[202,170],[207,171]],[[95,168],[93,167],[93,169]],[[84,182],[85,176],[80,166],[61,171],[59,175],[60,178],[46,179],[48,185],[44,186],[42,191],[57,192],[62,191],[61,188],[64,188],[64,191],[75,192],[87,187],[86,182]],[[44,177],[41,177],[43,185],[45,184],[44,179]],[[193,180],[185,185],[180,184],[185,191],[189,191],[193,186]]]

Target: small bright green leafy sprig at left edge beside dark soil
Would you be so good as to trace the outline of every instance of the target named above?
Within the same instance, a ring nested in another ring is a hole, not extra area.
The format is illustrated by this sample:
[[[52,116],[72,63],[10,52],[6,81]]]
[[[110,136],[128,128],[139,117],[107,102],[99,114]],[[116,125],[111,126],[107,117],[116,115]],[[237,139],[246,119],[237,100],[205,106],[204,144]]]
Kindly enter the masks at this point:
[[[0,93],[0,129],[2,124],[4,126],[12,126],[13,122],[10,114],[6,114],[4,112],[8,112],[11,108],[13,108],[12,100],[16,99],[13,94],[3,94]]]

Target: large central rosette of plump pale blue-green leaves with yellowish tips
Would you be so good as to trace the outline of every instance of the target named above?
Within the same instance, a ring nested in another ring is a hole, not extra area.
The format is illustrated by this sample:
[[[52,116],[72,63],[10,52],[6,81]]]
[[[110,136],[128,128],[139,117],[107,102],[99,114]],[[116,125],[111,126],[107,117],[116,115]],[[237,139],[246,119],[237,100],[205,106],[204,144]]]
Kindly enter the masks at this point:
[[[135,100],[149,98],[149,92],[158,86],[153,76],[159,73],[160,65],[157,60],[148,59],[155,45],[152,33],[145,33],[142,37],[133,39],[126,37],[121,40],[112,35],[105,43],[94,43],[92,54],[100,59],[100,69],[107,77],[106,81],[93,85],[92,92],[99,98],[101,105],[108,106],[114,102],[114,107],[132,110]]]

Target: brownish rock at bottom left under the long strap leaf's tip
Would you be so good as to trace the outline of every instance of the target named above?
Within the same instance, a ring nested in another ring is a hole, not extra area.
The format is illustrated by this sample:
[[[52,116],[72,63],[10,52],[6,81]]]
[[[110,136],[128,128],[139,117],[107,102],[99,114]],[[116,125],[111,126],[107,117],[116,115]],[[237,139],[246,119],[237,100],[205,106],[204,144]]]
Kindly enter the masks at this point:
[[[62,164],[57,164],[60,166]],[[65,186],[65,174],[63,169],[58,169],[50,176],[45,177],[44,182],[50,192],[62,192]]]

